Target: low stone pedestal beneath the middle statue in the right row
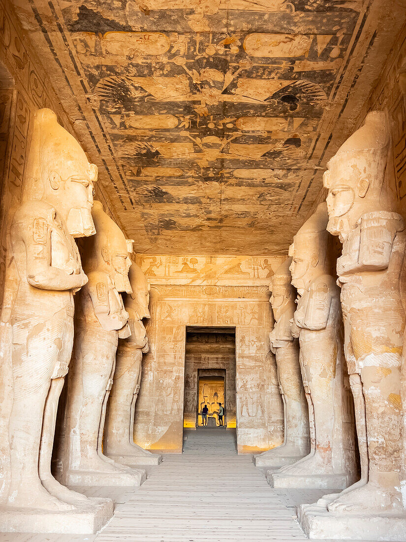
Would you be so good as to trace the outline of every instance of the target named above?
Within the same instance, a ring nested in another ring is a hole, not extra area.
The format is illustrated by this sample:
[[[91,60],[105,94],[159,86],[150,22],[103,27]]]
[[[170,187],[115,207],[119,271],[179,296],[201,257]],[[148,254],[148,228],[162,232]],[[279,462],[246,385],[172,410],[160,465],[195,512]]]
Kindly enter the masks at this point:
[[[345,489],[352,483],[352,476],[345,474],[297,475],[269,470],[266,480],[274,488]]]

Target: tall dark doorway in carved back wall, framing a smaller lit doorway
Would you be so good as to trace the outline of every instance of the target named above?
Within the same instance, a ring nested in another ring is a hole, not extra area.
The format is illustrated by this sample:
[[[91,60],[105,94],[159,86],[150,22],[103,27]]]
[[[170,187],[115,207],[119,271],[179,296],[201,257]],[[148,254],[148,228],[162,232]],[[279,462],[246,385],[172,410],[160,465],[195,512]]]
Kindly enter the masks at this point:
[[[224,425],[219,424],[219,406]],[[207,428],[202,409],[207,405]],[[235,328],[186,327],[184,429],[225,430],[236,426]]]

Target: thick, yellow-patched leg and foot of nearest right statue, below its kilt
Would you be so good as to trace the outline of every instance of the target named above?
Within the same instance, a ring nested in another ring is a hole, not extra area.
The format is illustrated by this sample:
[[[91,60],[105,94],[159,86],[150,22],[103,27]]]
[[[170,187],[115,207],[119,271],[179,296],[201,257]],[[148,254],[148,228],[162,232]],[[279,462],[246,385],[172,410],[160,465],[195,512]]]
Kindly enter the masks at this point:
[[[370,358],[370,359],[369,359]],[[381,364],[378,365],[379,358]],[[373,364],[373,365],[372,365]],[[363,360],[361,380],[368,434],[369,479],[329,505],[332,512],[401,513],[400,359],[371,354]]]

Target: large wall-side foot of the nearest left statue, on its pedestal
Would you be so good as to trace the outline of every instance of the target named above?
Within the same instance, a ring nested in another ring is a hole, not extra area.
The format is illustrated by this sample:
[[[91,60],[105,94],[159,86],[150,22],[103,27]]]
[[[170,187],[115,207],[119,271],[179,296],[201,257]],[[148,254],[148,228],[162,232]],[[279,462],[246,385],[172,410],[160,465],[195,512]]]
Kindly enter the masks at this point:
[[[40,508],[53,512],[72,512],[75,506],[59,500],[42,486],[40,480],[25,479],[16,491],[10,492],[9,506],[17,508]]]

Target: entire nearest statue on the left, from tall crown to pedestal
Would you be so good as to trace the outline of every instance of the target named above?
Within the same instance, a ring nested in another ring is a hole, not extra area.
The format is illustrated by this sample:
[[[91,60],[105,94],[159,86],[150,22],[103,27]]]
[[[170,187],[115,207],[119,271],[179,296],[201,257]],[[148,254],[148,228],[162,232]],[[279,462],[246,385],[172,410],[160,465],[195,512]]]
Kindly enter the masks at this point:
[[[96,166],[56,115],[37,111],[23,203],[10,229],[6,288],[14,298],[13,396],[9,435],[2,436],[10,446],[9,476],[1,489],[2,531],[93,532],[113,513],[111,501],[69,491],[50,470],[58,400],[73,347],[73,294],[88,281],[74,237],[95,233],[96,178]]]

